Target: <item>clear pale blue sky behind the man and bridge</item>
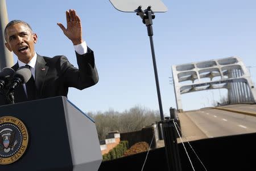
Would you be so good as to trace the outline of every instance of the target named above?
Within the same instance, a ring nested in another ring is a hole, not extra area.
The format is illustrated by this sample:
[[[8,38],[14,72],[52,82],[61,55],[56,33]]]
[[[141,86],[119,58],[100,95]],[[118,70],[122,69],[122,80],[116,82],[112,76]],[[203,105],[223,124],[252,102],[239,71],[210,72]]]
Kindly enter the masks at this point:
[[[156,13],[153,39],[164,114],[170,106],[176,108],[169,78],[172,65],[237,56],[246,66],[256,66],[255,0],[162,1],[168,12]],[[48,57],[64,54],[75,66],[72,42],[56,23],[66,24],[65,10],[69,8],[80,15],[83,37],[94,50],[100,76],[96,86],[83,91],[69,89],[68,99],[81,110],[122,112],[135,105],[159,109],[150,41],[146,26],[135,13],[117,11],[108,0],[6,3],[9,20],[24,20],[37,33],[37,53]],[[256,67],[250,71],[255,83]],[[188,93],[182,96],[183,108],[208,106],[224,93]]]

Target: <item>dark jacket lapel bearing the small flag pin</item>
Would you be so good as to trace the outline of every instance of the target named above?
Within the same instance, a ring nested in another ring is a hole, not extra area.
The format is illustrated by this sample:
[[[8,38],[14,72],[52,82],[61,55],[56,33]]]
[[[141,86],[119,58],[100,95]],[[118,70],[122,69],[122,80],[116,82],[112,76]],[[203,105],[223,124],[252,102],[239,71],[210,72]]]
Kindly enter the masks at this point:
[[[46,61],[44,58],[38,54],[36,58],[36,70],[35,70],[35,84],[36,84],[36,95],[40,96],[42,94],[42,87],[44,84],[44,80],[46,78],[46,74],[48,71],[48,66],[46,66]]]

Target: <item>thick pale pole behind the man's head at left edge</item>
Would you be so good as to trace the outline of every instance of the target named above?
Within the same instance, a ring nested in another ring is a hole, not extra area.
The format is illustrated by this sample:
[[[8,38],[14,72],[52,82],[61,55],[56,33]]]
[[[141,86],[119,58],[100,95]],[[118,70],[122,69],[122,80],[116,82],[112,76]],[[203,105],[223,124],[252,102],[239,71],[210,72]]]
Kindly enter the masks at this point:
[[[8,23],[5,0],[0,0],[0,69],[13,66],[13,54],[5,47],[5,26]]]

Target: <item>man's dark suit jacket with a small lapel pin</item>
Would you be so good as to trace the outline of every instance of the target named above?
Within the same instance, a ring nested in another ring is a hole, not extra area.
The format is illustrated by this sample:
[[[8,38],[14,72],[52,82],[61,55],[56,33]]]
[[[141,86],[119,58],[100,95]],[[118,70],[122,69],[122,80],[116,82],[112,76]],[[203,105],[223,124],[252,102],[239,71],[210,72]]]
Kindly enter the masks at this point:
[[[35,84],[36,99],[68,95],[68,87],[84,89],[98,82],[98,72],[94,63],[93,51],[76,53],[79,69],[69,63],[67,57],[58,55],[53,58],[42,57],[38,54],[36,59]],[[19,68],[18,62],[12,67]],[[23,86],[20,85],[14,92],[15,103],[28,101]],[[10,104],[6,96],[0,95],[0,105]]]

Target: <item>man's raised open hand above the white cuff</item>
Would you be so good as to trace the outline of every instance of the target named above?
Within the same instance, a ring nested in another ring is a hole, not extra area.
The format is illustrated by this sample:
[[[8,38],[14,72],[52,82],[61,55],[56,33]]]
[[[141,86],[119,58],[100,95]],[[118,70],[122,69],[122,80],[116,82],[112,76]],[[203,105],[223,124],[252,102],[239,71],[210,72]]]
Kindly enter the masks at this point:
[[[75,10],[66,11],[67,29],[61,23],[57,23],[62,29],[65,36],[73,42],[73,45],[81,44],[82,40],[82,24]]]

